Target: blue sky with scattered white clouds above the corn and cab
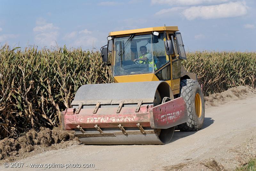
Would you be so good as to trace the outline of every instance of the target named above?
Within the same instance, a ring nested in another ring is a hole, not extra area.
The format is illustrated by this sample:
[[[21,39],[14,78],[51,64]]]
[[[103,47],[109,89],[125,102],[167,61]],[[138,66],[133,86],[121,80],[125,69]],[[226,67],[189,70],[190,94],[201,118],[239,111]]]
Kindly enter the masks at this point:
[[[255,0],[0,1],[0,45],[99,50],[111,31],[165,24],[187,51],[256,51]]]

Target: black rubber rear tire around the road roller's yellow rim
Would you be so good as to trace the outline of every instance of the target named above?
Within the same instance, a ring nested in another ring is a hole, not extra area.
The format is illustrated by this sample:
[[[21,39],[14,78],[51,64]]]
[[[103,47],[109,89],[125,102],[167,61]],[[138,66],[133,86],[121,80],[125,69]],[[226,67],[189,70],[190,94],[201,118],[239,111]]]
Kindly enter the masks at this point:
[[[196,115],[195,97],[199,93],[202,103],[200,118]],[[185,79],[180,81],[180,97],[183,97],[187,105],[188,121],[178,125],[181,131],[198,131],[204,123],[204,95],[199,83],[196,80]]]

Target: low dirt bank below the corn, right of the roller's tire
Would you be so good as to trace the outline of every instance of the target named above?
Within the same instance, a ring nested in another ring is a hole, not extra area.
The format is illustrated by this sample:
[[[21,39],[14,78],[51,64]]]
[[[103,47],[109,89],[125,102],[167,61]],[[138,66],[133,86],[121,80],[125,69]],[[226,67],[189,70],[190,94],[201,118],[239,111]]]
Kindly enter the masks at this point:
[[[243,99],[246,96],[256,94],[256,90],[249,86],[238,86],[230,88],[221,93],[214,93],[204,97],[205,107],[218,106],[231,100]]]

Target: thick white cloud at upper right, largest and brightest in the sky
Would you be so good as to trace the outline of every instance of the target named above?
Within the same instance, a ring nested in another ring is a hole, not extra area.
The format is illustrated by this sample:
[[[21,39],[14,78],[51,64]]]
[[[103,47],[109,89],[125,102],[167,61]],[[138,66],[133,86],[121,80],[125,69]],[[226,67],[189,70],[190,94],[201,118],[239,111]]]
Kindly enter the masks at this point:
[[[244,2],[230,2],[220,5],[193,6],[185,9],[182,14],[188,20],[196,18],[217,19],[243,16],[247,13],[247,6]]]

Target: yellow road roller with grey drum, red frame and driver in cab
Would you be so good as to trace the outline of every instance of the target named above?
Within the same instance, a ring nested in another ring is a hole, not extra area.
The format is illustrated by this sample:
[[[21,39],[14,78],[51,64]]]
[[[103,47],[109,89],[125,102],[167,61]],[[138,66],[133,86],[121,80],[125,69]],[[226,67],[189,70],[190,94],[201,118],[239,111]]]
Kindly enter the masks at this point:
[[[198,131],[204,96],[177,26],[110,32],[101,47],[115,83],[81,86],[61,112],[84,144],[168,144],[174,130]],[[104,69],[104,68],[102,68]]]

